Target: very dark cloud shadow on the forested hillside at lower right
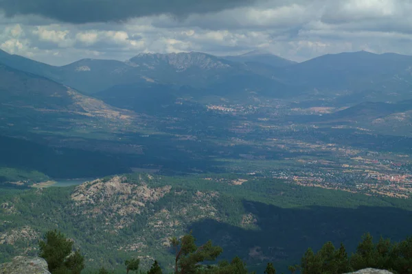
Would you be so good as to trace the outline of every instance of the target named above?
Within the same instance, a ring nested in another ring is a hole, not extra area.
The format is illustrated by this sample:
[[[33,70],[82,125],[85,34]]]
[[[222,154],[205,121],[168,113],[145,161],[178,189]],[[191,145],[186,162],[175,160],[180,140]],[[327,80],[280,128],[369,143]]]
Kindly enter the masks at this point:
[[[190,229],[199,242],[211,239],[223,247],[222,258],[240,256],[252,268],[272,261],[286,271],[288,264],[300,262],[308,247],[316,251],[328,240],[335,247],[343,242],[351,253],[365,232],[376,240],[380,236],[402,240],[412,233],[412,212],[396,208],[278,208],[254,201],[244,201],[244,208],[253,214],[257,229],[211,219],[194,223]]]

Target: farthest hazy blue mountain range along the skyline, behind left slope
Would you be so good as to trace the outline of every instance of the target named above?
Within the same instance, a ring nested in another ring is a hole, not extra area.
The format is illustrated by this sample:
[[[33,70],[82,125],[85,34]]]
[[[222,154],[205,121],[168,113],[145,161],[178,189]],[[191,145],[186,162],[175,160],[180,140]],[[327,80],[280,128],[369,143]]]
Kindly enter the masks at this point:
[[[322,55],[301,63],[264,51],[226,57],[198,52],[140,53],[126,62],[84,59],[66,66],[50,66],[1,51],[0,63],[84,94],[145,83],[214,90],[223,97],[227,92],[248,90],[270,97],[313,90],[328,94],[366,89],[405,92],[412,85],[411,56],[366,51]]]

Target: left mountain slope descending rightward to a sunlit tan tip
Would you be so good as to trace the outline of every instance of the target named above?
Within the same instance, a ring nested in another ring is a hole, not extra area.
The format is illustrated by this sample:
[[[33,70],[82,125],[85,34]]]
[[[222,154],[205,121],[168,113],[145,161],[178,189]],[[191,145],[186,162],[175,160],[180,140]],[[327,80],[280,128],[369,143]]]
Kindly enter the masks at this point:
[[[80,117],[87,116],[89,119],[117,122],[122,119],[129,120],[133,116],[131,112],[113,108],[52,79],[19,71],[4,64],[0,64],[0,90],[0,112],[3,117],[1,123],[6,124],[19,121],[18,124],[23,125],[37,117],[38,123],[32,124],[32,127],[43,124],[44,127],[49,127],[47,121],[52,119],[52,116],[57,121],[58,118],[68,117],[77,121]],[[8,114],[11,110],[14,112],[12,116]]]

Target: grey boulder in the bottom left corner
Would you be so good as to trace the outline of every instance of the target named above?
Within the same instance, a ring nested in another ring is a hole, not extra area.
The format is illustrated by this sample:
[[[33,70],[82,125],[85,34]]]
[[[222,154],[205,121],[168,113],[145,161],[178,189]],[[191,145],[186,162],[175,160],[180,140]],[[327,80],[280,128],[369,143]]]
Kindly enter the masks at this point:
[[[0,264],[0,274],[50,274],[43,258],[14,257],[12,262]]]

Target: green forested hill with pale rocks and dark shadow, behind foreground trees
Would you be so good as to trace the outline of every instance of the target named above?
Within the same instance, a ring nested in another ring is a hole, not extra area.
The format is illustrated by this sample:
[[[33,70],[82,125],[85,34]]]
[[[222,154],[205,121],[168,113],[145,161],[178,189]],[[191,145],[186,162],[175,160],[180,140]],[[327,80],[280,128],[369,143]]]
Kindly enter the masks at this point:
[[[239,256],[251,270],[299,262],[308,247],[331,240],[356,249],[365,232],[402,240],[412,225],[409,199],[306,188],[238,175],[107,177],[70,188],[4,190],[1,260],[38,252],[38,238],[60,229],[82,249],[88,267],[117,269],[130,256],[148,267],[173,264],[169,238],[190,229],[211,239],[221,259]],[[402,225],[399,225],[402,224]]]

